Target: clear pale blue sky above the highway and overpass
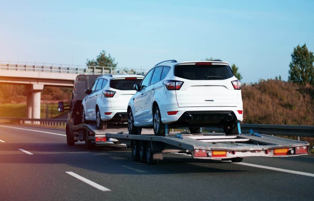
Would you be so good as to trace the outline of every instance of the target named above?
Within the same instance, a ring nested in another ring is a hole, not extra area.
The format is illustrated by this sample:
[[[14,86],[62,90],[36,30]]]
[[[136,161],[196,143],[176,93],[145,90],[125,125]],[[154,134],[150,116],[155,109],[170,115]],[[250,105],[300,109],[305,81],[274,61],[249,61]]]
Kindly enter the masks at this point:
[[[281,75],[314,51],[314,1],[0,1],[0,60],[85,64],[105,49],[118,67],[166,59],[236,63],[243,82]]]

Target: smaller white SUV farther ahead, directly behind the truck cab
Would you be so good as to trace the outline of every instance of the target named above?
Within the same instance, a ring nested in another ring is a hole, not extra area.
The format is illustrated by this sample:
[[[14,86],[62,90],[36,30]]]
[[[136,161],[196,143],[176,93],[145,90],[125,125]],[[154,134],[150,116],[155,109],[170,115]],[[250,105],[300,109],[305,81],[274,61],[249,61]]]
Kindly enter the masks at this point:
[[[127,122],[127,103],[136,91],[134,84],[143,80],[142,75],[102,75],[95,80],[82,101],[82,123],[96,122],[98,129],[109,123]]]

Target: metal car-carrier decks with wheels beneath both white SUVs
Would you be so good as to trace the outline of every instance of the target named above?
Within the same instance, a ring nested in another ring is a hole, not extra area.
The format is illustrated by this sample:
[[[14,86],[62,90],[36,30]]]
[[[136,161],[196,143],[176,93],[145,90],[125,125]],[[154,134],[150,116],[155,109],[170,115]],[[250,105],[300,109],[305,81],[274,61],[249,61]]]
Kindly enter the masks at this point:
[[[79,140],[85,140],[87,148],[103,142],[124,143],[132,149],[134,161],[157,164],[164,153],[186,153],[196,159],[222,159],[241,162],[244,157],[289,157],[307,155],[309,143],[258,133],[168,132],[156,136],[152,129],[143,129],[140,135],[127,133],[125,125],[106,130],[95,126],[79,124],[73,127],[79,131]]]

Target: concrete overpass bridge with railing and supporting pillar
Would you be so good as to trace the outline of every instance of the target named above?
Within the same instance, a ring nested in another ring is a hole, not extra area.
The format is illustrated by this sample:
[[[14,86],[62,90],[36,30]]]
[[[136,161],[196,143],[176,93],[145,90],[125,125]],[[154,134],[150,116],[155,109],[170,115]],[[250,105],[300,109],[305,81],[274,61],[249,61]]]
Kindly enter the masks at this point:
[[[73,87],[78,74],[138,74],[142,69],[113,69],[103,66],[65,65],[0,61],[0,83],[23,84],[27,90],[27,118],[40,118],[41,91],[44,86]]]

